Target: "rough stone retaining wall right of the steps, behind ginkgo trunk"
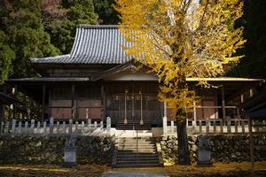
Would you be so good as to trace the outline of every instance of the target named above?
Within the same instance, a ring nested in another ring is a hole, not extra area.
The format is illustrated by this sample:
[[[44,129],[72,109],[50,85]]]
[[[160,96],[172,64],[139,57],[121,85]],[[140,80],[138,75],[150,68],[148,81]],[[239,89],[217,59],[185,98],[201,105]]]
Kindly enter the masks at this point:
[[[247,135],[207,135],[210,139],[213,162],[249,161],[249,137]],[[189,135],[189,148],[192,162],[198,159],[198,136]],[[255,143],[266,145],[265,136],[256,136]],[[165,165],[177,161],[177,138],[167,136],[160,140]],[[255,151],[256,160],[266,160],[266,151]]]

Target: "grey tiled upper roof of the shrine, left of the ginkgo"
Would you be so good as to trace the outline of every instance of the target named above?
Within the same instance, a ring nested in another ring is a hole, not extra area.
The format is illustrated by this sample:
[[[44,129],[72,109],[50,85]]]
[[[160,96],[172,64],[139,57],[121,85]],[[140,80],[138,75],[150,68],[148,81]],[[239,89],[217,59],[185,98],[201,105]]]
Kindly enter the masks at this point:
[[[132,59],[121,46],[130,46],[117,26],[80,25],[68,55],[30,58],[31,63],[56,64],[123,64]]]

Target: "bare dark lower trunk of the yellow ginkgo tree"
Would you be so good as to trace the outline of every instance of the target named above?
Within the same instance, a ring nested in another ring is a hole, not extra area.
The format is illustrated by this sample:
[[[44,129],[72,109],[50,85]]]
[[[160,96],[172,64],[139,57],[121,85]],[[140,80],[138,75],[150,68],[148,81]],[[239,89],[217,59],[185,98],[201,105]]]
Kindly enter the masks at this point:
[[[186,122],[176,119],[178,141],[178,164],[191,165],[190,151],[187,140]]]

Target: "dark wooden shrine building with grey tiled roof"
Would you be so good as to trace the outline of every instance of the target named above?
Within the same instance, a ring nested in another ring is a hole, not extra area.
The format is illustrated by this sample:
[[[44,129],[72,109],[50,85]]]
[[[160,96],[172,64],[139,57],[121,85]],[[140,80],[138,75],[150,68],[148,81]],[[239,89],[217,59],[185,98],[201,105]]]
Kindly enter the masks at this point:
[[[43,105],[42,119],[112,119],[112,127],[142,129],[161,127],[170,109],[158,100],[156,75],[137,69],[121,45],[130,46],[116,26],[85,26],[76,29],[70,54],[30,58],[42,75],[38,78],[10,79],[7,84],[23,90]],[[215,86],[197,86],[197,78],[188,78],[191,89],[201,97],[188,115],[197,119],[240,119],[237,105],[255,92],[263,80],[243,78],[207,78]]]

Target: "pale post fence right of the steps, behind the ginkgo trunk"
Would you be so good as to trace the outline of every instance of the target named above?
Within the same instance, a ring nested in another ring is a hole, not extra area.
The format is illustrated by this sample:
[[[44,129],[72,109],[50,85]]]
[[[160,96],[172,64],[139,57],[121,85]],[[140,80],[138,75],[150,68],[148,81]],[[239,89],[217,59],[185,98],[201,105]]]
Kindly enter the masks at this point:
[[[265,124],[265,122],[262,122]],[[189,135],[200,134],[246,134],[248,133],[248,120],[247,119],[199,119],[196,121],[186,121],[187,133]],[[254,131],[260,131],[254,128]],[[167,121],[163,118],[163,134],[176,135],[176,121]]]

